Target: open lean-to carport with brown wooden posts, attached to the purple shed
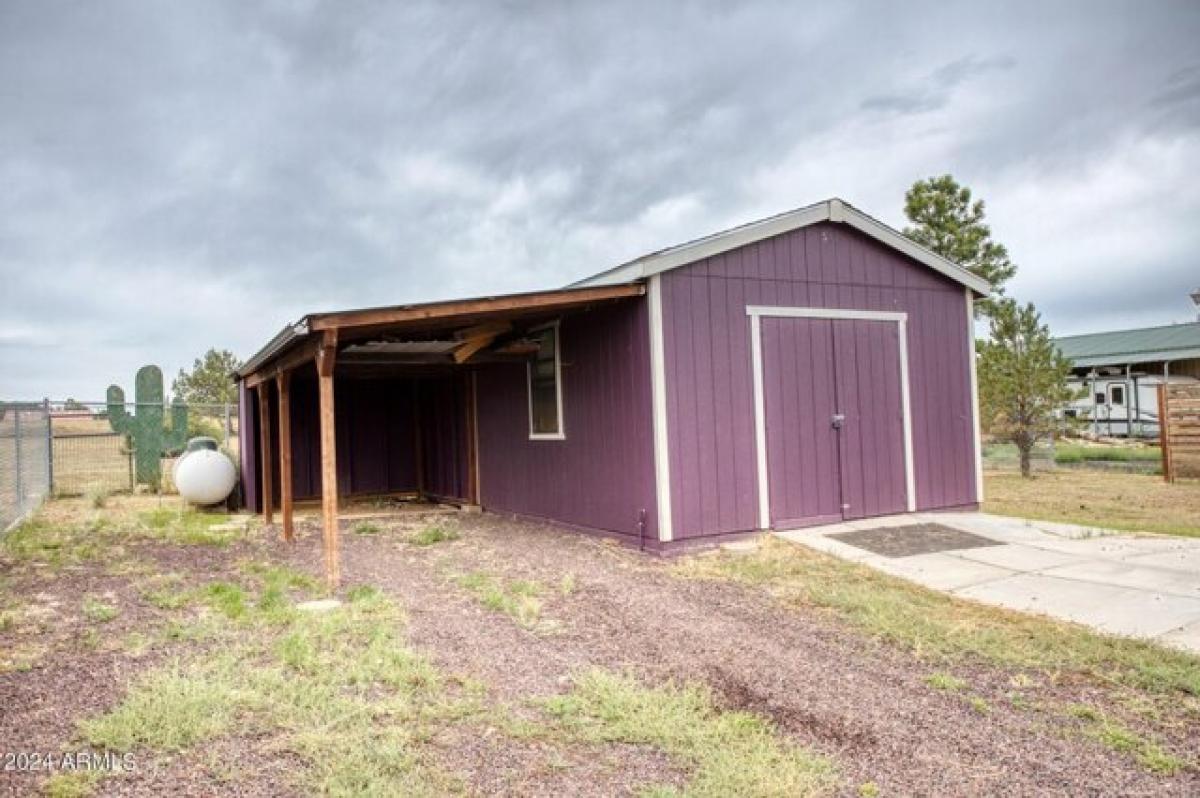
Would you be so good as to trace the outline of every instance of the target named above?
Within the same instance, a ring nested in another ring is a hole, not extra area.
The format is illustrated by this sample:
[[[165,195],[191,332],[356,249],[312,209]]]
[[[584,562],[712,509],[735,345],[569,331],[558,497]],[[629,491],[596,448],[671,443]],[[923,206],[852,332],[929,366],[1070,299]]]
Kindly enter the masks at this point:
[[[529,362],[533,330],[643,293],[625,283],[305,317],[238,372],[245,503],[269,524],[277,503],[290,541],[295,502],[319,497],[336,586],[340,500],[479,503],[479,367]]]

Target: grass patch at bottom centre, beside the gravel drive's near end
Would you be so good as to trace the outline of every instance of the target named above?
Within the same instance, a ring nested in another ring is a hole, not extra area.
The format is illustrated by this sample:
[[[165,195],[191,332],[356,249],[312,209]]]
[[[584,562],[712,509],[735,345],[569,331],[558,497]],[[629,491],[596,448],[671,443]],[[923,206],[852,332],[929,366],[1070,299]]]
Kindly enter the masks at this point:
[[[817,796],[836,786],[829,760],[788,742],[758,715],[716,709],[700,685],[648,688],[595,670],[544,706],[578,739],[649,745],[688,766],[682,791],[650,785],[643,794]]]

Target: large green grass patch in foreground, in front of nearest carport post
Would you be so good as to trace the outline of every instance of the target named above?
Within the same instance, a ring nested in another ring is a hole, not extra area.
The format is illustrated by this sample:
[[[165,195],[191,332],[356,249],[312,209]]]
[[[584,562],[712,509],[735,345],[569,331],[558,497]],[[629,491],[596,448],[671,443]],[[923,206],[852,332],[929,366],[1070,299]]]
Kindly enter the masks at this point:
[[[245,596],[241,606],[257,612]],[[300,758],[294,786],[306,793],[454,792],[461,785],[428,764],[421,745],[428,724],[469,714],[474,700],[446,694],[437,668],[407,646],[402,620],[382,593],[359,588],[330,612],[226,631],[218,652],[151,671],[115,709],[83,721],[80,734],[118,752],[266,737]]]

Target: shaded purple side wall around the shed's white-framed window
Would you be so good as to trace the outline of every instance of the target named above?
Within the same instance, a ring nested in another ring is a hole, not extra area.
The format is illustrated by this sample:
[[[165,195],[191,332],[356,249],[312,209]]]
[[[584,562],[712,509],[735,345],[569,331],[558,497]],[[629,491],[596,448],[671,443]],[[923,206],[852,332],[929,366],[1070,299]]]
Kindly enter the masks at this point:
[[[530,440],[524,365],[478,372],[485,509],[658,539],[649,338],[642,299],[560,328],[564,440]]]

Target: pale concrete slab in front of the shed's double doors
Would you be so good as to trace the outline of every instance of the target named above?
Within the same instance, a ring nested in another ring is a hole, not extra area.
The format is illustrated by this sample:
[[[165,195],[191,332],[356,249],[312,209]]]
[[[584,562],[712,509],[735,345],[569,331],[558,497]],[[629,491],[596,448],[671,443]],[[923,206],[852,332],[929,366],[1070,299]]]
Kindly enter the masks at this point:
[[[833,538],[918,523],[952,527],[996,545],[887,557]],[[1200,539],[983,512],[868,518],[778,535],[953,595],[1200,653]]]

